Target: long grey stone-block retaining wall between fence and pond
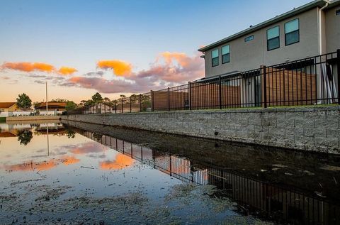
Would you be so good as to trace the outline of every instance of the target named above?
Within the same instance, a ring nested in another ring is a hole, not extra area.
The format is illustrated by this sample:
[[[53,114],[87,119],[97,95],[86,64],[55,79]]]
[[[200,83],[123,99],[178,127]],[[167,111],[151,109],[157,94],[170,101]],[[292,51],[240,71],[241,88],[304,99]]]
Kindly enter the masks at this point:
[[[340,106],[70,115],[62,120],[340,153]]]

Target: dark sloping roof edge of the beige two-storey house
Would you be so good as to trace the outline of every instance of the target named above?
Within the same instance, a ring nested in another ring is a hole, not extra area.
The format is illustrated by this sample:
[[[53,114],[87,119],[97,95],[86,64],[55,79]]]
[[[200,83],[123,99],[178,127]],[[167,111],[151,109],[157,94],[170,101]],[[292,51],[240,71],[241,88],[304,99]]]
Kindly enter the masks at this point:
[[[200,52],[205,52],[206,50],[210,50],[211,48],[215,48],[217,47],[218,45],[222,45],[224,43],[228,43],[229,41],[231,40],[234,40],[234,39],[237,39],[237,38],[241,38],[243,37],[244,35],[248,35],[250,33],[254,33],[255,31],[258,31],[260,30],[261,28],[265,28],[267,26],[271,26],[272,24],[274,23],[278,23],[279,21],[283,21],[285,20],[286,18],[290,18],[292,16],[295,16],[297,14],[300,14],[300,13],[303,13],[305,11],[308,11],[310,9],[313,9],[315,7],[323,7],[325,6],[326,4],[329,4],[329,7],[333,6],[334,4],[339,4],[339,0],[335,0],[335,1],[328,1],[328,0],[315,0],[315,1],[312,1],[308,4],[305,4],[303,6],[300,6],[296,9],[293,9],[291,11],[288,11],[286,13],[283,13],[281,14],[280,16],[276,16],[274,18],[271,18],[269,19],[268,21],[264,21],[262,23],[259,23],[255,26],[251,26],[250,28],[247,28],[246,30],[244,31],[241,31],[239,33],[235,33],[233,35],[230,35],[229,37],[227,38],[223,38],[221,40],[218,40],[217,42],[215,43],[212,43],[210,45],[207,45],[203,48],[200,48],[198,49],[198,51]]]

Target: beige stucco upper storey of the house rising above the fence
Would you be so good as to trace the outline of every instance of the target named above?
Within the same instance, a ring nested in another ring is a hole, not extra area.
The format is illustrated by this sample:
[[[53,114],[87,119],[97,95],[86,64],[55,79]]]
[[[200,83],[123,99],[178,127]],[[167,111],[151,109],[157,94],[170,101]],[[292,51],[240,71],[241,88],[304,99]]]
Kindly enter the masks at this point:
[[[339,48],[340,0],[317,0],[199,51],[203,53],[208,78],[331,53]],[[336,72],[335,67],[333,71]]]

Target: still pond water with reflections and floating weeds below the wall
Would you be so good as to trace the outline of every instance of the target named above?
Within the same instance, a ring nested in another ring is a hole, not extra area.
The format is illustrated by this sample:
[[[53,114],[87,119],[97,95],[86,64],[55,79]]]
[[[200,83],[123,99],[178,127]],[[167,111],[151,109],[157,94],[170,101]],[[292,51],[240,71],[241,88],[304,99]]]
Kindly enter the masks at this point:
[[[0,224],[340,224],[340,156],[0,124]]]

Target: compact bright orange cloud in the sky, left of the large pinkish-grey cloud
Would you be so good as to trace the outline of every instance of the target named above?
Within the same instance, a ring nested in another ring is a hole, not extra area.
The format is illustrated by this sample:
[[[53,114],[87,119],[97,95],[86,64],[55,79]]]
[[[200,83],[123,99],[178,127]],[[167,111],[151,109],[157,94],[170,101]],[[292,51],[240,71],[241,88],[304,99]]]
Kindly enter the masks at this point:
[[[97,62],[97,66],[101,69],[112,69],[117,76],[130,76],[132,65],[121,60],[101,60]]]

